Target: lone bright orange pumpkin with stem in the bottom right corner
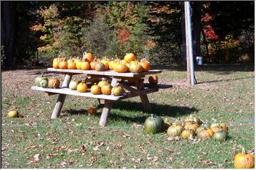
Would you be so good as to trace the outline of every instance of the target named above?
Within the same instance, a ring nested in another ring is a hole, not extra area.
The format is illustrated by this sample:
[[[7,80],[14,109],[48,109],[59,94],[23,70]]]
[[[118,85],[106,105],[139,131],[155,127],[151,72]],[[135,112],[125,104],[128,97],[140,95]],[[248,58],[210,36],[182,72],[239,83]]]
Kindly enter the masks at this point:
[[[235,155],[234,165],[237,169],[252,169],[255,167],[255,157],[252,154],[246,154],[245,148],[242,148],[242,153]]]

